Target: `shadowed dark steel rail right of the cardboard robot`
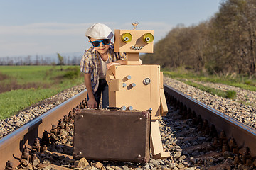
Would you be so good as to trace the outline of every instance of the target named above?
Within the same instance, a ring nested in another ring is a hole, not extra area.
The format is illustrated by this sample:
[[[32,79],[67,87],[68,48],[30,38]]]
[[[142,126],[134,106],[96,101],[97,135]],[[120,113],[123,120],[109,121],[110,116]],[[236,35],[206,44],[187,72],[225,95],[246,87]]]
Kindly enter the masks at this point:
[[[173,96],[187,108],[190,108],[191,111],[195,111],[196,115],[201,115],[203,120],[208,120],[209,125],[215,125],[218,132],[224,130],[228,138],[235,138],[238,147],[249,147],[251,156],[256,156],[256,130],[170,86],[164,85],[164,91],[167,95]]]

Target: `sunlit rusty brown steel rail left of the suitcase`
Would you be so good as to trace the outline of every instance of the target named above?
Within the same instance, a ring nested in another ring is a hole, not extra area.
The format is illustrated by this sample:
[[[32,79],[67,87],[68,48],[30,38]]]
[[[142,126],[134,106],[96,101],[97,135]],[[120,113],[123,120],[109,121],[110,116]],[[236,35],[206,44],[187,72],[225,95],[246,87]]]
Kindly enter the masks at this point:
[[[87,96],[84,90],[69,98],[50,111],[38,116],[17,130],[9,133],[0,139],[0,169],[5,169],[6,162],[10,160],[14,167],[18,166],[21,152],[24,145],[33,146],[36,137],[42,137],[44,130],[48,132],[53,124],[57,124],[58,120],[67,115],[69,111],[78,106]]]

